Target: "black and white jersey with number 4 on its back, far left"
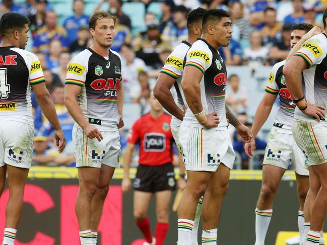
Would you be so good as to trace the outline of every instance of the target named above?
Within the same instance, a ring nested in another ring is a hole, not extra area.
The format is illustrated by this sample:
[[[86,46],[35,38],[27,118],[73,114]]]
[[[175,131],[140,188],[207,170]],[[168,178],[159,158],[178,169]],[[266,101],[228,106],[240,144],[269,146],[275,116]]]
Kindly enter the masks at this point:
[[[44,81],[35,54],[16,46],[0,47],[0,120],[33,125],[31,85]]]

